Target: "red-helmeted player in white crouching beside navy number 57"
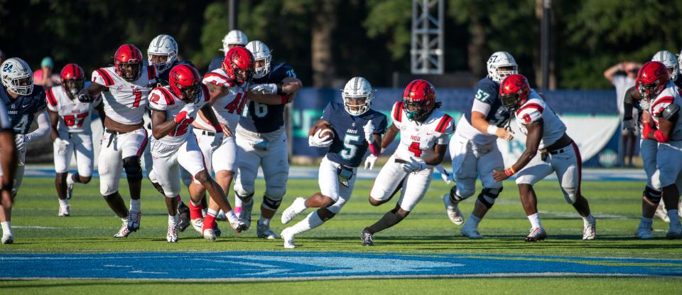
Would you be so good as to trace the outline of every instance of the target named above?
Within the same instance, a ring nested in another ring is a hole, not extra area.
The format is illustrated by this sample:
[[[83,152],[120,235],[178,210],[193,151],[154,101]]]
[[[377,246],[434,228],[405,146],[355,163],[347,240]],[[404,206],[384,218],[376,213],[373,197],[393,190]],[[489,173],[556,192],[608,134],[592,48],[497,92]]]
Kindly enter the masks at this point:
[[[495,181],[504,181],[518,173],[521,203],[531,222],[526,242],[536,242],[547,237],[540,222],[537,197],[533,185],[551,173],[556,173],[563,196],[583,217],[583,240],[594,240],[597,223],[590,214],[588,200],[580,193],[582,160],[573,139],[566,134],[566,126],[522,75],[509,75],[499,87],[499,100],[514,112],[516,124],[526,134],[526,149],[516,163],[504,171],[493,171]],[[537,157],[538,149],[540,156]]]

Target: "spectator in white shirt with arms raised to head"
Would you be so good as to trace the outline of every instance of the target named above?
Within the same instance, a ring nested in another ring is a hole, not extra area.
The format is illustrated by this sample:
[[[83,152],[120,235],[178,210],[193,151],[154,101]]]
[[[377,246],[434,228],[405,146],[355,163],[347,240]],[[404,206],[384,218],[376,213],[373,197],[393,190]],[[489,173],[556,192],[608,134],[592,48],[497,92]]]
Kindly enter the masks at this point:
[[[622,119],[624,116],[623,100],[625,91],[629,87],[634,86],[637,70],[639,70],[640,67],[642,67],[642,64],[640,63],[626,61],[617,63],[604,71],[604,77],[616,87],[616,107],[618,108],[621,122],[623,121]],[[627,156],[627,166],[634,166],[632,164],[632,156],[634,156],[637,134],[634,134],[634,132],[627,129],[621,128],[621,130],[622,140],[618,144],[618,164],[619,166],[625,166],[625,158]]]

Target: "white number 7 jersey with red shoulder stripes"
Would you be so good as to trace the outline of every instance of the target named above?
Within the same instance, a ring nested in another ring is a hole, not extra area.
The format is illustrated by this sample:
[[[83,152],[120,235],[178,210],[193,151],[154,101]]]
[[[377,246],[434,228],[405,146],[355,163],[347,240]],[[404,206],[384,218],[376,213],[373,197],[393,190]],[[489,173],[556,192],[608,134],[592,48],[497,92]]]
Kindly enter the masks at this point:
[[[149,85],[156,84],[156,70],[153,66],[143,66],[140,78],[128,82],[116,74],[114,67],[99,68],[92,72],[92,82],[109,87],[109,94],[102,92],[104,113],[116,122],[135,125],[142,122]]]

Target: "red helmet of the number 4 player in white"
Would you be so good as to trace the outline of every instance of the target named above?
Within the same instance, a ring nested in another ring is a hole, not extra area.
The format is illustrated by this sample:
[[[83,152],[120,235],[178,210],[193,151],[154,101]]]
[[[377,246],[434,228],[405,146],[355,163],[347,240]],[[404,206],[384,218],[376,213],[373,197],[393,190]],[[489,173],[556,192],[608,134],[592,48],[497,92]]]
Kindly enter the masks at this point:
[[[435,88],[426,80],[414,80],[405,87],[403,102],[407,119],[423,121],[435,106]]]

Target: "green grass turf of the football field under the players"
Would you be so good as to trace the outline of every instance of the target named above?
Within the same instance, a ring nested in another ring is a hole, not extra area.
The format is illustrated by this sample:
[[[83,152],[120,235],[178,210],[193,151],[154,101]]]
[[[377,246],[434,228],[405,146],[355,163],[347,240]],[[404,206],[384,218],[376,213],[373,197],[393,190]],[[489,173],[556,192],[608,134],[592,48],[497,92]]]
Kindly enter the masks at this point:
[[[263,182],[256,184],[256,195],[262,192]],[[467,240],[453,225],[442,203],[442,195],[450,186],[433,181],[431,189],[411,215],[395,227],[374,235],[374,247],[362,247],[359,232],[371,225],[393,208],[391,201],[380,207],[367,202],[371,181],[357,182],[354,194],[340,215],[310,232],[296,237],[296,250],[302,252],[359,252],[359,253],[405,253],[405,254],[502,254],[538,255],[551,257],[611,257],[679,259],[682,242],[666,240],[667,224],[654,221],[653,240],[637,240],[634,231],[639,222],[641,191],[643,183],[637,182],[585,182],[583,193],[590,201],[592,214],[597,218],[597,240],[581,240],[582,220],[573,207],[565,203],[555,181],[543,181],[536,186],[538,208],[548,240],[538,243],[524,242],[529,230],[514,183],[507,181],[501,197],[480,225],[485,240]],[[121,192],[127,187],[121,182]],[[291,180],[281,210],[291,204],[293,198],[308,196],[318,191],[315,180]],[[186,194],[185,194],[186,195]],[[468,217],[474,198],[465,201],[460,208]],[[259,201],[257,203],[260,203]],[[210,242],[199,237],[192,227],[180,234],[176,244],[166,242],[167,214],[163,197],[151,185],[145,183],[142,201],[142,227],[126,239],[114,239],[121,221],[115,218],[99,195],[98,180],[87,186],[76,186],[71,202],[69,218],[58,218],[58,203],[53,179],[27,178],[13,209],[12,225],[15,232],[13,245],[0,245],[0,255],[6,254],[73,254],[73,253],[126,253],[126,252],[231,252],[268,251],[283,252],[281,240],[261,240],[255,230],[236,234],[229,225],[220,222],[222,237]],[[258,206],[256,205],[256,208]],[[256,209],[257,210],[257,209]],[[254,210],[254,219],[257,218]],[[281,211],[280,210],[280,211]],[[309,210],[306,213],[310,212]],[[297,222],[305,216],[299,215]],[[293,223],[292,223],[293,224]],[[255,220],[254,220],[255,225]],[[283,225],[279,215],[272,226],[279,232]],[[286,250],[292,252],[292,250]],[[1,260],[0,260],[1,262]],[[522,263],[522,261],[521,261]],[[591,263],[591,262],[590,262]],[[661,262],[657,267],[676,267],[681,264]],[[40,267],[32,265],[31,267]],[[64,265],[65,268],[69,267]],[[207,269],[206,272],[215,272]],[[0,277],[4,277],[0,274]],[[640,293],[655,290],[656,293],[682,291],[680,277],[610,277],[534,275],[526,277],[473,277],[453,278],[396,278],[396,279],[323,279],[303,281],[160,281],[116,279],[28,279],[0,281],[2,294],[73,294],[73,293],[189,293],[204,288],[234,294],[262,294],[277,291],[281,294],[395,294],[426,293],[455,294],[558,294],[622,292]]]

